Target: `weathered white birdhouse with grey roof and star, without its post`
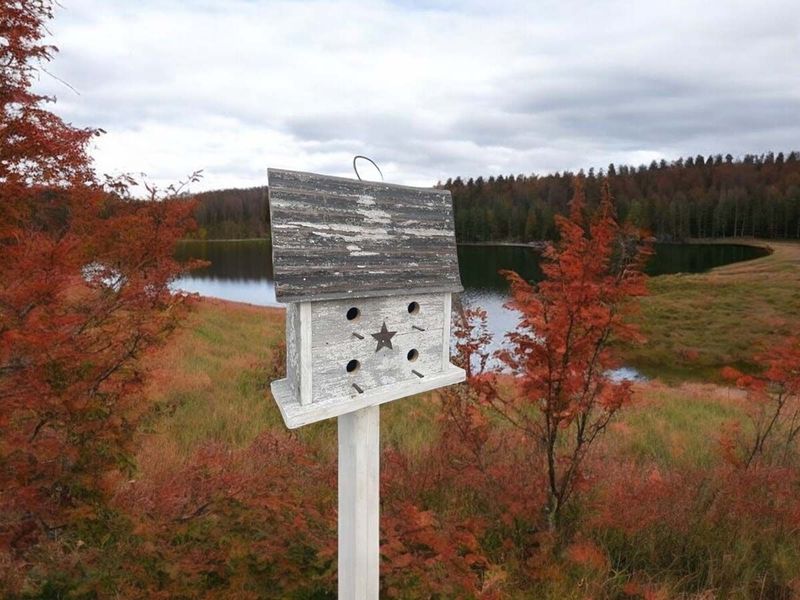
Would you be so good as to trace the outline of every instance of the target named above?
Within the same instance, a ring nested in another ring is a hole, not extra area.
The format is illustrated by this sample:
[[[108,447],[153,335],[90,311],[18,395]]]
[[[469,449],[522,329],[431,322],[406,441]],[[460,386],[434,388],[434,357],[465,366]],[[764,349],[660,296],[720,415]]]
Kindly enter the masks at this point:
[[[286,308],[290,428],[464,380],[447,190],[269,170],[275,293]]]

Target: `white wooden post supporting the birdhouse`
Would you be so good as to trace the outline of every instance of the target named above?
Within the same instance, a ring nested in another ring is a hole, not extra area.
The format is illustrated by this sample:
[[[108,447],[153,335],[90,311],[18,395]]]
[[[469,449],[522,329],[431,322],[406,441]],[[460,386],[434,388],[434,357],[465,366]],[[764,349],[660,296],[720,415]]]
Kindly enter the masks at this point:
[[[380,406],[338,417],[339,600],[378,600]]]

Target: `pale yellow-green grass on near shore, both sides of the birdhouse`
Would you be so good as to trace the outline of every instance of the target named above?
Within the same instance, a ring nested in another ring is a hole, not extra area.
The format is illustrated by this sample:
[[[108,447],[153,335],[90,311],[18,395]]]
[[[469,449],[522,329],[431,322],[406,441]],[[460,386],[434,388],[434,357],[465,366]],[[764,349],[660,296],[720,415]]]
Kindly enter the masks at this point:
[[[170,346],[151,359],[147,395],[158,408],[138,457],[142,473],[177,466],[206,442],[241,448],[264,430],[284,427],[269,393],[274,375],[266,371],[283,317],[279,309],[201,300]],[[640,384],[604,451],[663,468],[710,466],[719,460],[720,426],[741,415],[741,403],[738,391],[713,384]],[[413,455],[435,435],[436,410],[431,394],[384,405],[382,444]],[[335,420],[295,435],[334,458]]]

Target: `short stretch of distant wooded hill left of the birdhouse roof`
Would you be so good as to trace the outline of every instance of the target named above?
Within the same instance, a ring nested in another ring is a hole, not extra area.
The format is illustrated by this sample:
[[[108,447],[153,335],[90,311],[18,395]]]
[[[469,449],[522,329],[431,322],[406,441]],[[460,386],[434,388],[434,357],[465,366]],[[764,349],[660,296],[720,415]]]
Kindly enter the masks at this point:
[[[196,194],[197,231],[209,240],[269,237],[267,188],[216,190]]]

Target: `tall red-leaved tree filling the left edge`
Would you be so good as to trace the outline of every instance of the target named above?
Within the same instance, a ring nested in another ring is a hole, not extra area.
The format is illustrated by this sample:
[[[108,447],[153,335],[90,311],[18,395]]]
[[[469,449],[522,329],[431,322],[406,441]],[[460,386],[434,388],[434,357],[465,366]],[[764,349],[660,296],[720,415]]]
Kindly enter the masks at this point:
[[[51,9],[0,3],[0,553],[23,563],[126,464],[136,360],[181,314],[172,250],[192,222],[191,202],[104,188],[86,154],[97,131],[30,91],[55,51],[41,43]]]

